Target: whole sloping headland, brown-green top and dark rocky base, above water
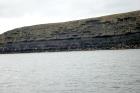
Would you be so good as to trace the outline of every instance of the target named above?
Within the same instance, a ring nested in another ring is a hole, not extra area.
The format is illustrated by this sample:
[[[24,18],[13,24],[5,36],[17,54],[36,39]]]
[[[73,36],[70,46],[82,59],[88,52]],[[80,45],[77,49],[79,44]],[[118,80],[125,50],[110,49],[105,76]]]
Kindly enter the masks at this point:
[[[140,11],[17,28],[0,35],[0,53],[140,48]]]

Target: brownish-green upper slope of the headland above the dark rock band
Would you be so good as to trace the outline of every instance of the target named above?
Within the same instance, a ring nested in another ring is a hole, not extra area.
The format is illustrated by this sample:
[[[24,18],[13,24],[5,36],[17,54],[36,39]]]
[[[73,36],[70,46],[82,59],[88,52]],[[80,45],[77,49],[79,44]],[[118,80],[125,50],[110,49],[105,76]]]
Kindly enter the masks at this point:
[[[16,28],[0,35],[0,43],[119,35],[127,32],[140,32],[140,11]]]

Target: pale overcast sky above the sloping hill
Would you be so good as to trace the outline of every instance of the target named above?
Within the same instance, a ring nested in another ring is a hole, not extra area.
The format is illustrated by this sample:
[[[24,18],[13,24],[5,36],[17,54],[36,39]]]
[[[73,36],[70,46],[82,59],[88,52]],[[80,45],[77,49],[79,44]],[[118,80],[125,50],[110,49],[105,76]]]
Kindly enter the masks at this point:
[[[0,34],[23,26],[140,10],[140,0],[0,0]]]

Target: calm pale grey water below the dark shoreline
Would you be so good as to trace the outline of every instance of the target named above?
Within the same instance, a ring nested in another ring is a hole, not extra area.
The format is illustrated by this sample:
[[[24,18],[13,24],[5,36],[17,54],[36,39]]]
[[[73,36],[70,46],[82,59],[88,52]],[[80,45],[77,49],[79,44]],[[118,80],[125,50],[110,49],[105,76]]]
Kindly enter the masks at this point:
[[[140,49],[0,54],[0,93],[140,93]]]

